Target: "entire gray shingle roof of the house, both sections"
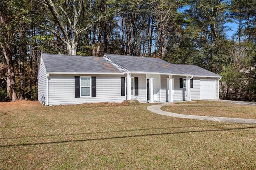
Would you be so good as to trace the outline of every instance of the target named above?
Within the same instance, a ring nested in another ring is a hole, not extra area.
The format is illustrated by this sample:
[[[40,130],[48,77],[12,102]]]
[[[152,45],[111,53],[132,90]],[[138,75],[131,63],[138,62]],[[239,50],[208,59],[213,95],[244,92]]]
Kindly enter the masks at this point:
[[[220,77],[196,65],[171,64],[162,59],[105,54],[114,63],[131,72],[165,73]],[[46,71],[62,73],[122,73],[102,57],[42,53]]]

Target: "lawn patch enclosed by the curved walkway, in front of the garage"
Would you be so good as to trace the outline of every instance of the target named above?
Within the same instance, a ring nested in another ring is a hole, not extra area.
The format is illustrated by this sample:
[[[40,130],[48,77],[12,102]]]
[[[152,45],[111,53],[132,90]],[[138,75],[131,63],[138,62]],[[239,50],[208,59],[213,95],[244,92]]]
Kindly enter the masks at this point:
[[[164,106],[161,109],[184,115],[256,119],[256,106],[238,105],[221,101],[182,102]]]

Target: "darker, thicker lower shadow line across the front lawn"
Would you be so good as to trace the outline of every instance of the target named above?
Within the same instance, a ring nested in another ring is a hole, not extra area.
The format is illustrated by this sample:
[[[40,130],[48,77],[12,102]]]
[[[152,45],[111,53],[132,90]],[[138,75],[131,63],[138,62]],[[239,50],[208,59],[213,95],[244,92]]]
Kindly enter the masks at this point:
[[[41,144],[58,144],[58,143],[66,143],[66,142],[85,142],[85,141],[91,141],[91,140],[107,140],[107,139],[131,138],[131,137],[142,137],[142,136],[157,136],[157,135],[166,135],[166,134],[183,134],[183,133],[193,133],[193,132],[229,131],[229,130],[240,130],[240,129],[249,129],[249,128],[256,128],[256,127],[228,128],[228,129],[216,129],[216,130],[191,130],[191,131],[184,131],[184,132],[151,133],[151,134],[139,134],[139,135],[129,135],[129,136],[115,136],[115,137],[106,137],[106,138],[92,138],[92,139],[79,139],[79,140],[62,140],[62,141],[54,141],[54,142],[40,142],[40,143],[38,142],[38,143],[25,143],[25,144],[9,144],[9,145],[2,145],[2,146],[0,146],[0,148],[10,147],[10,146],[31,146],[31,145],[41,145]]]

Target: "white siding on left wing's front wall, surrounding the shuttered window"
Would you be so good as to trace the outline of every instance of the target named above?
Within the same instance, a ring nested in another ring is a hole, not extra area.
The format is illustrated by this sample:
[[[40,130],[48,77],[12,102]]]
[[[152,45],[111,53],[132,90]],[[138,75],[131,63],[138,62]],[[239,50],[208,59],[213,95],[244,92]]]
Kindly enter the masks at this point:
[[[80,75],[91,76],[91,75]],[[75,98],[75,79],[70,75],[51,75],[49,77],[49,105],[65,105],[97,102],[122,102],[120,75],[96,76],[96,97]]]

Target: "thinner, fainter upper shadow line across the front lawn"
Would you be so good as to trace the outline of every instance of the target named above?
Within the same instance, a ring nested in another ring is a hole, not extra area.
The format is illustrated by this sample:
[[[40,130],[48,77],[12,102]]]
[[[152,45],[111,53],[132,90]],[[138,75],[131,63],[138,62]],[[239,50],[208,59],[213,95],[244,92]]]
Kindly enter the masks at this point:
[[[97,123],[98,124],[98,123]],[[85,125],[85,124],[70,124],[70,125]],[[87,124],[86,124],[87,125]],[[118,131],[103,131],[103,132],[85,132],[85,133],[68,133],[65,135],[81,135],[81,134],[100,134],[100,133],[114,133],[114,132],[132,132],[132,131],[141,131],[141,130],[157,130],[157,129],[171,129],[171,128],[196,128],[196,127],[215,127],[221,125],[238,125],[237,123],[230,123],[230,124],[220,124],[220,125],[200,125],[200,126],[188,126],[188,127],[161,127],[161,128],[142,128],[142,129],[126,129],[126,130],[118,130]],[[66,126],[66,125],[64,125]],[[88,129],[90,130],[90,129]],[[11,138],[0,138],[0,139],[21,139],[21,138],[31,138],[31,137],[50,137],[50,136],[63,136],[63,134],[49,134],[49,135],[42,135],[42,136],[19,136],[19,137],[11,137]]]

